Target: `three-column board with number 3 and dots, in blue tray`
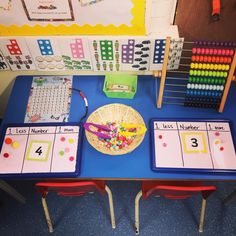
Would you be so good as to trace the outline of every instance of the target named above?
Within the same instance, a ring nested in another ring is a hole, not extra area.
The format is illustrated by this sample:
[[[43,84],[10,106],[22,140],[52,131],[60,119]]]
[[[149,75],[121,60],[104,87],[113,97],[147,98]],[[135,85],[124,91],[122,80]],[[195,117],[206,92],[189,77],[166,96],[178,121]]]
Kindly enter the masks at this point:
[[[229,121],[151,120],[152,169],[236,171]]]

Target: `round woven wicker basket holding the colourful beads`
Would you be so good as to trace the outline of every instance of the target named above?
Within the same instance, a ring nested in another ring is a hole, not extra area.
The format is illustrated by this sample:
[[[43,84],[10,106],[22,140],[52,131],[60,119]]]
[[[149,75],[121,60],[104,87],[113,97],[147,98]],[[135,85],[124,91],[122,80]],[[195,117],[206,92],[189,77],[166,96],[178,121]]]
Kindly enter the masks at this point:
[[[106,125],[108,122],[115,122],[117,124],[139,124],[144,125],[142,116],[132,107],[119,103],[113,103],[102,106],[95,110],[87,119],[88,123],[96,123]],[[137,135],[133,142],[122,149],[113,150],[104,145],[98,137],[88,131],[85,131],[88,142],[99,152],[108,155],[123,155],[132,152],[143,141],[145,133]]]

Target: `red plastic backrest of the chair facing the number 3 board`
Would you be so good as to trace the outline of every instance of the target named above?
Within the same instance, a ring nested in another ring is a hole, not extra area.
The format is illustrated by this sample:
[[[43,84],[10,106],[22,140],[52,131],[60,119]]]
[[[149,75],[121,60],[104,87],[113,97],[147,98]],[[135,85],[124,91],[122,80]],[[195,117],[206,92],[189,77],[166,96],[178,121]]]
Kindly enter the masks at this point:
[[[168,199],[186,199],[201,193],[208,198],[216,190],[215,186],[204,186],[199,181],[143,181],[142,197],[147,199],[151,195],[159,195]]]

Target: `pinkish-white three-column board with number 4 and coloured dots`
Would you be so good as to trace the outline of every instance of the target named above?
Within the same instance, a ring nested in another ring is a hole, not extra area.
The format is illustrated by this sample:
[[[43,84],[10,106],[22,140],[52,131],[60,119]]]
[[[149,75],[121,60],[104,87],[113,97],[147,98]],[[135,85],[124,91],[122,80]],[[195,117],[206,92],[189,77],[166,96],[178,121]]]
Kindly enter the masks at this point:
[[[82,148],[79,125],[7,126],[0,175],[78,175]]]

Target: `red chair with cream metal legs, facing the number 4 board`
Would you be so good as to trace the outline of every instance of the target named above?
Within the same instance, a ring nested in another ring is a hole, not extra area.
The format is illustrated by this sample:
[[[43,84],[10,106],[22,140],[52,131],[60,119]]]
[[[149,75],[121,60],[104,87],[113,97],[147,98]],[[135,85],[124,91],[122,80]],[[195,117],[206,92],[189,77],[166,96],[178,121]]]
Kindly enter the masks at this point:
[[[108,194],[111,225],[114,229],[115,225],[115,215],[113,207],[113,199],[111,190],[105,184],[105,181],[63,181],[63,182],[40,182],[36,184],[37,191],[42,196],[42,205],[45,213],[46,221],[48,224],[49,232],[53,232],[52,221],[49,215],[48,206],[46,202],[46,196],[49,191],[56,192],[60,196],[83,196],[86,193],[98,191],[100,194],[104,195],[106,192]]]

